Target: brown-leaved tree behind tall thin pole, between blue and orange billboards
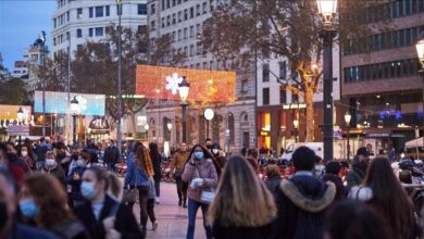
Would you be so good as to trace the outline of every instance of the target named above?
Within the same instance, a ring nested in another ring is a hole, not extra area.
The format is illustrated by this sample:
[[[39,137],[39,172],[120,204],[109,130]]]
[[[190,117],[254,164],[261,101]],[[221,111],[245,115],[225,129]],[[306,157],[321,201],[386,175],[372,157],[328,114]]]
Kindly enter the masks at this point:
[[[100,42],[89,41],[76,52],[72,62],[72,89],[87,93],[105,93],[107,115],[114,126],[119,118],[116,104],[117,89],[117,29],[107,27],[108,38]],[[182,64],[184,56],[173,54],[172,39],[169,35],[155,40],[149,39],[146,26],[137,32],[122,30],[122,116],[128,115],[133,136],[136,136],[135,115],[144,109],[146,98],[127,97],[136,93],[137,64]]]

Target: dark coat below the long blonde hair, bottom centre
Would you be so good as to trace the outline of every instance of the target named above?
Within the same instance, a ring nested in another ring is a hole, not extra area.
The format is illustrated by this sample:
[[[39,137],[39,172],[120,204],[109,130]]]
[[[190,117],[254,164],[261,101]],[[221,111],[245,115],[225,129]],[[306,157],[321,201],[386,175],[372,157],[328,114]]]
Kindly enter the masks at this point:
[[[212,234],[215,239],[269,239],[272,224],[261,227],[223,227],[215,222],[212,226]]]

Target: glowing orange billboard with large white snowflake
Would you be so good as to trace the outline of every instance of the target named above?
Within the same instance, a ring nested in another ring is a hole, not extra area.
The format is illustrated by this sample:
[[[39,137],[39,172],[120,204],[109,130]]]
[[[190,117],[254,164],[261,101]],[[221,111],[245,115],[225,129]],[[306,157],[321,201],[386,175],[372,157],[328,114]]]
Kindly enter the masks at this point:
[[[137,65],[136,93],[150,99],[179,101],[178,83],[186,76],[189,101],[233,102],[236,100],[236,73]]]

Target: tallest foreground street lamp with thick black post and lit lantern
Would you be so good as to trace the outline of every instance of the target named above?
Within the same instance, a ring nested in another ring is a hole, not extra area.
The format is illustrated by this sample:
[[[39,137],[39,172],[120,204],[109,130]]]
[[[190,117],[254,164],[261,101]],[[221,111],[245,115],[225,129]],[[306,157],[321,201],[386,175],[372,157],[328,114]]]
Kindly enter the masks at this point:
[[[336,36],[333,20],[337,12],[337,0],[317,0],[316,3],[324,24],[320,33],[324,48],[324,160],[333,160],[333,40]]]

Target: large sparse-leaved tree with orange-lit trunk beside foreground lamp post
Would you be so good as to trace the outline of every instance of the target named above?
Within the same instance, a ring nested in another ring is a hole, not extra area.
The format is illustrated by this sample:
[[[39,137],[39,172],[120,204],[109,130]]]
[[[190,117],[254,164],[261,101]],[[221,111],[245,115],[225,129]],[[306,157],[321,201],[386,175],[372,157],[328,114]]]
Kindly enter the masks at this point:
[[[338,30],[336,41],[342,47],[344,42],[363,38],[371,32],[367,25],[356,22],[347,13],[357,13],[377,1],[338,2],[339,14],[344,17],[339,17],[335,25]],[[381,14],[385,14],[384,11]],[[320,90],[322,76],[323,45],[319,37],[322,28],[316,1],[234,0],[220,5],[207,20],[201,42],[230,68],[253,65],[255,58],[286,58],[290,74],[285,79],[273,75],[286,90],[303,97],[307,104],[305,141],[312,141],[313,95]]]

